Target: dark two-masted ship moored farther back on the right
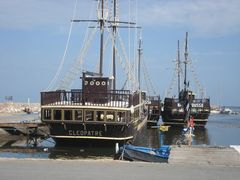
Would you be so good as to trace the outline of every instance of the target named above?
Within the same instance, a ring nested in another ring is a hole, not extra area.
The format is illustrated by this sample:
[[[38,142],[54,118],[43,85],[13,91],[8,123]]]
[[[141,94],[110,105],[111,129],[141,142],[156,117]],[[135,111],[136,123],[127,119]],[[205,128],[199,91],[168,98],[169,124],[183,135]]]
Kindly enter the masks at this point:
[[[179,41],[176,71],[178,77],[178,97],[166,97],[163,102],[162,120],[169,125],[185,125],[190,116],[194,118],[196,126],[205,126],[210,114],[210,99],[196,98],[196,94],[190,90],[187,80],[188,59],[188,33],[186,33],[185,59],[180,61]],[[184,64],[184,87],[181,89],[181,63]],[[203,94],[203,93],[202,93]]]

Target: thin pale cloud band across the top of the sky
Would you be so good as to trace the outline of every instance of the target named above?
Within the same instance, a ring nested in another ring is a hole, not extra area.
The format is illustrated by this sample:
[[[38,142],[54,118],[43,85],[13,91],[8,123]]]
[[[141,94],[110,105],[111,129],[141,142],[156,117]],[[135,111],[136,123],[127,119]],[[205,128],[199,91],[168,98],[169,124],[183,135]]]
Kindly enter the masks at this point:
[[[78,17],[88,19],[90,9],[95,8],[93,2],[78,0]],[[2,0],[0,28],[29,29],[65,25],[72,16],[74,3],[75,0]],[[124,18],[128,14],[129,4],[128,1],[119,3],[120,17]],[[135,6],[133,2],[131,4]],[[137,0],[137,4],[138,21],[143,27],[182,27],[204,36],[240,32],[239,0]]]

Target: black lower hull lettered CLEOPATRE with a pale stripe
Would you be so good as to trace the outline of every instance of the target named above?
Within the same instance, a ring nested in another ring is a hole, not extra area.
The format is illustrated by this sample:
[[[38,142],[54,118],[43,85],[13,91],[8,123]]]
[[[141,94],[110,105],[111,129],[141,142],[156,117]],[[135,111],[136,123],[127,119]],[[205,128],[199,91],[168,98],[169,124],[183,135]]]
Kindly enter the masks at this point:
[[[113,146],[133,141],[138,125],[145,124],[146,120],[139,120],[138,124],[49,123],[49,129],[56,146]]]

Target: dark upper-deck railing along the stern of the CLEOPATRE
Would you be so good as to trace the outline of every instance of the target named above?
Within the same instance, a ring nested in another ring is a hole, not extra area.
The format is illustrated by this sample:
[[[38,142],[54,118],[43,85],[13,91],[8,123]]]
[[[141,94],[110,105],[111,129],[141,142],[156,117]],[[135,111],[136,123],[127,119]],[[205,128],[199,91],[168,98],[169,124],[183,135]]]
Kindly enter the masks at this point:
[[[128,90],[87,93],[82,90],[41,92],[41,105],[85,105],[130,107],[133,97]]]

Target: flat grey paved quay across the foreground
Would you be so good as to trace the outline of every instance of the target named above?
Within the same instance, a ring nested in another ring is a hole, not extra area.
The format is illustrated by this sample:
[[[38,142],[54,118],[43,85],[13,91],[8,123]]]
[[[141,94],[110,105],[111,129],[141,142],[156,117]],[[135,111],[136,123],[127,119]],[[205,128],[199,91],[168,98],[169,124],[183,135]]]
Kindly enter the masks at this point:
[[[114,160],[0,159],[1,179],[238,179],[240,166],[157,164]]]

